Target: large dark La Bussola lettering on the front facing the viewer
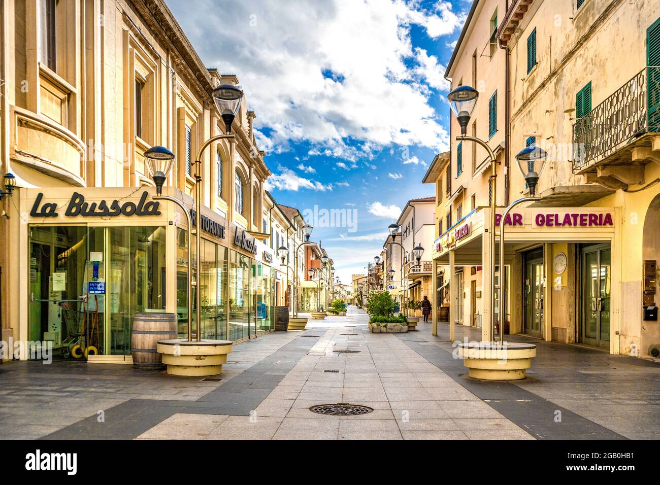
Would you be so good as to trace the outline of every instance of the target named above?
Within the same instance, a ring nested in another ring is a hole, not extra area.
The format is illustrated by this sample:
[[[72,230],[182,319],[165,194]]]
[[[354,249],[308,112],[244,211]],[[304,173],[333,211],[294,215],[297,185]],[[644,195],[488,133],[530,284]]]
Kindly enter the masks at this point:
[[[112,217],[112,216],[160,216],[160,203],[157,201],[147,201],[149,193],[146,191],[142,193],[140,200],[135,203],[133,201],[122,202],[121,199],[115,199],[111,203],[103,200],[98,203],[88,203],[84,200],[84,195],[74,192],[67,203],[67,209],[64,215],[67,217]],[[31,217],[57,217],[57,204],[43,203],[44,194],[39,193],[34,199],[32,209],[30,209]]]

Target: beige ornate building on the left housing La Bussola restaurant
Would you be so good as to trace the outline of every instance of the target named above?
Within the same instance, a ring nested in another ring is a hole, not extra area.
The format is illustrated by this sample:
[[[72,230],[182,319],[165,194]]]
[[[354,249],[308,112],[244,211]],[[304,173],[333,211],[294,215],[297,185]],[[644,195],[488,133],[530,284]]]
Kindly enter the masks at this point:
[[[31,342],[20,358],[51,345],[129,363],[135,313],[187,331],[187,216],[151,199],[155,145],[176,155],[164,193],[192,209],[201,176],[203,337],[270,331],[288,286],[270,234],[290,247],[302,224],[264,190],[249,93],[235,139],[195,163],[224,133],[211,92],[236,75],[207,69],[162,0],[5,0],[0,20],[0,170],[16,182],[0,201],[2,339]]]

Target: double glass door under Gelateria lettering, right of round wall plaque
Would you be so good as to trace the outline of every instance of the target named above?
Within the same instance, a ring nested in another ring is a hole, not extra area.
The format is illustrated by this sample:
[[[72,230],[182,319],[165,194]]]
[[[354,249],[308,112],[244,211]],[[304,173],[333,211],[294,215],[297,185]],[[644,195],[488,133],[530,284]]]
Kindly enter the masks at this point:
[[[583,303],[581,342],[595,346],[610,344],[610,267],[609,244],[582,249]]]

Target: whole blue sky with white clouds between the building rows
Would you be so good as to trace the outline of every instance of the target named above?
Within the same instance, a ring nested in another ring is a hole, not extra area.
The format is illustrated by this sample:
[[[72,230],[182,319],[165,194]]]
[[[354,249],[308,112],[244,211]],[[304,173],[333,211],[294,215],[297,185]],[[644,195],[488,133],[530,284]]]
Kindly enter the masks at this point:
[[[444,72],[471,1],[166,2],[207,66],[238,76],[275,199],[350,210],[350,226],[310,221],[350,284],[405,203],[434,194],[421,181],[449,146]]]

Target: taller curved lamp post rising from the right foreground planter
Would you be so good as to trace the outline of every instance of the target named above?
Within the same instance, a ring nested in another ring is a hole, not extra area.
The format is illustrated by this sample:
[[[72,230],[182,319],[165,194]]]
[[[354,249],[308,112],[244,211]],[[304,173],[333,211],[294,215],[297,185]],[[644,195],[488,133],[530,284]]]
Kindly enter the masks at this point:
[[[497,160],[495,154],[488,146],[488,143],[477,137],[468,137],[467,125],[470,122],[470,117],[472,112],[475,110],[477,104],[477,98],[479,98],[479,92],[471,86],[458,86],[457,88],[451,90],[447,94],[447,100],[449,100],[449,106],[451,107],[451,112],[456,117],[459,126],[461,127],[461,136],[456,137],[457,141],[471,141],[477,143],[484,147],[486,152],[488,152],[488,157],[490,158],[490,187],[491,187],[491,199],[490,199],[490,275],[492,278],[491,284],[491,294],[490,301],[488,302],[488,313],[490,315],[490,339],[494,339],[495,333],[495,212],[496,212],[496,180],[497,180]]]

